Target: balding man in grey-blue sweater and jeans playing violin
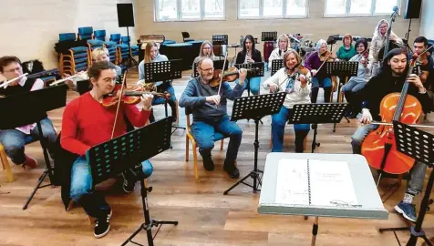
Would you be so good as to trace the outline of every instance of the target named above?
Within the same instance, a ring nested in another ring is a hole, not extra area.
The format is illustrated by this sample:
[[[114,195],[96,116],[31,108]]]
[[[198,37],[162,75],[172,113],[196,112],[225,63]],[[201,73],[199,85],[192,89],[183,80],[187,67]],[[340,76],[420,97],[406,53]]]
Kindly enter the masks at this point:
[[[220,132],[229,137],[229,146],[226,152],[223,169],[233,179],[240,177],[240,171],[235,167],[238,149],[243,135],[242,129],[231,121],[227,115],[226,99],[234,100],[243,95],[243,85],[247,72],[241,69],[239,83],[232,89],[229,83],[222,82],[220,95],[219,87],[212,87],[214,77],[213,62],[210,57],[202,57],[197,66],[199,77],[193,78],[185,87],[180,99],[180,107],[191,107],[193,123],[191,134],[199,147],[203,159],[203,167],[213,170],[214,163],[211,150],[214,147],[214,134]]]

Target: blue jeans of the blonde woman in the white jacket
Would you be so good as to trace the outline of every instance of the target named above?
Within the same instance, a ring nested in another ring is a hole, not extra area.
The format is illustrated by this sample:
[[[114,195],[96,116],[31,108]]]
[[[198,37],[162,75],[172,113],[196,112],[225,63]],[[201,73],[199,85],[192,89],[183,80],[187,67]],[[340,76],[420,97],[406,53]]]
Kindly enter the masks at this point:
[[[291,115],[291,110],[282,106],[279,113],[272,115],[272,152],[282,152],[284,149],[284,126]],[[294,124],[295,152],[301,153],[305,150],[304,141],[309,130],[310,124]]]

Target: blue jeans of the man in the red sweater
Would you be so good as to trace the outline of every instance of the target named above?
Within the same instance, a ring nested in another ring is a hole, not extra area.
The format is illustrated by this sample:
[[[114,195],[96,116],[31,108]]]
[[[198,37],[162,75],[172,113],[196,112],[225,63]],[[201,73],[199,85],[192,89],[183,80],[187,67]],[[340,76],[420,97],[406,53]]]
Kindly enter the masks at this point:
[[[152,174],[152,164],[149,160],[141,162],[142,170],[145,174],[145,178],[150,177]],[[72,164],[71,170],[71,189],[69,195],[72,200],[78,202],[84,195],[93,193],[92,190],[92,174],[88,160],[85,156],[80,156]]]

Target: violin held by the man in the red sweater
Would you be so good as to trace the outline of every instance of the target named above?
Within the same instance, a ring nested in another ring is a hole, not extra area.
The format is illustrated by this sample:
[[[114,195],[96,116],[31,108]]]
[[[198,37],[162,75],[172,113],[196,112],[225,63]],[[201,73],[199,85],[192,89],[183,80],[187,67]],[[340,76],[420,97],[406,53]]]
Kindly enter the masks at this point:
[[[142,87],[129,87],[123,89],[123,95],[120,98],[120,89],[121,85],[117,85],[115,89],[104,99],[102,100],[102,105],[106,108],[113,107],[115,105],[118,105],[120,102],[128,105],[135,105],[140,103],[141,99],[140,97],[142,95],[148,94],[148,95],[154,95],[156,97],[171,97],[170,94],[164,94],[164,93],[158,93],[153,91],[144,91]],[[120,101],[119,101],[120,100]]]

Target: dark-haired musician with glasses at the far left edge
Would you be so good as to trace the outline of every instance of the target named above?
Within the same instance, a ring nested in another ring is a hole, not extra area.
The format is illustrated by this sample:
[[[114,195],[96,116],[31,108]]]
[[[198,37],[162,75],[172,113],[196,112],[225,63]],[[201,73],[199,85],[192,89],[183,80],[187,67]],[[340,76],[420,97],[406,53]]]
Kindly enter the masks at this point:
[[[14,79],[23,75],[23,67],[21,61],[15,56],[0,57],[0,74],[7,80]],[[16,94],[25,93],[42,89],[44,81],[40,78],[21,77],[14,82],[0,88],[0,95],[4,97],[14,96]],[[22,112],[26,114],[26,112]],[[2,120],[7,120],[3,118]],[[40,121],[44,138],[47,139],[47,149],[52,159],[54,159],[56,130],[49,118],[44,118]],[[0,143],[5,147],[6,155],[16,165],[22,165],[23,168],[36,168],[36,159],[32,159],[25,154],[26,141],[32,138],[39,138],[39,130],[36,123],[21,126],[15,129],[0,130]]]

